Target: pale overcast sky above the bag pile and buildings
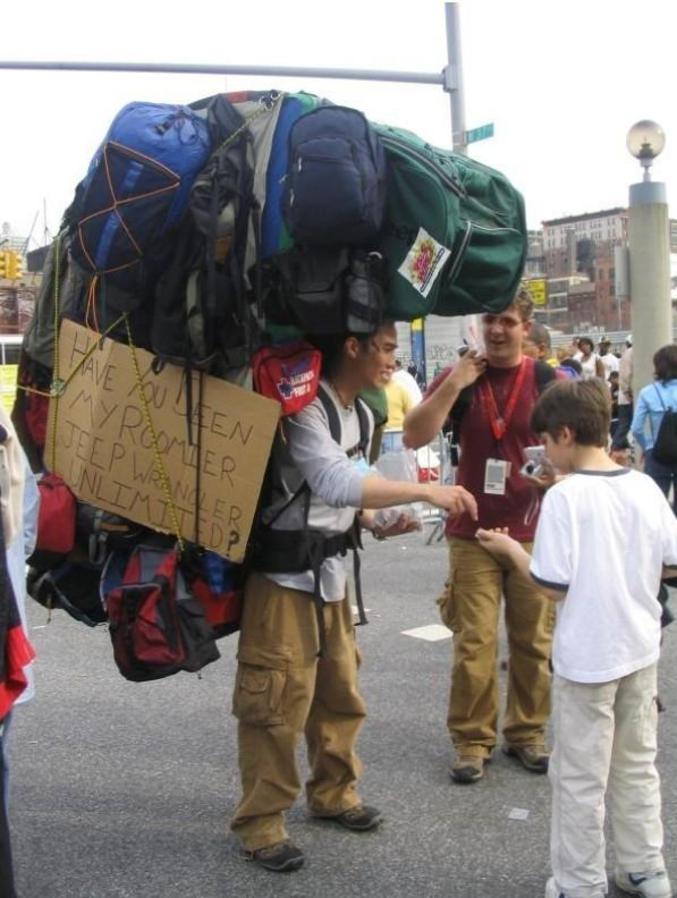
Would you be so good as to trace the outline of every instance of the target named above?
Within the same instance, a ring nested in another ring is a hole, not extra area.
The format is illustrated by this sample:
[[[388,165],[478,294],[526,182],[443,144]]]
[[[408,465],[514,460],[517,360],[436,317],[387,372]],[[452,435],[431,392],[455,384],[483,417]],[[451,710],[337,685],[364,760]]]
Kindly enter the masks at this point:
[[[672,0],[460,0],[467,126],[494,122],[480,161],[543,219],[627,204],[640,180],[625,147],[637,120],[658,121],[654,166],[677,209],[677,72]],[[3,12],[3,59],[186,62],[439,71],[443,0],[38,0]],[[10,38],[11,35],[11,38]],[[183,103],[224,89],[321,93],[369,118],[451,145],[449,101],[435,86],[254,77],[0,71],[0,222],[55,231],[118,109]]]

